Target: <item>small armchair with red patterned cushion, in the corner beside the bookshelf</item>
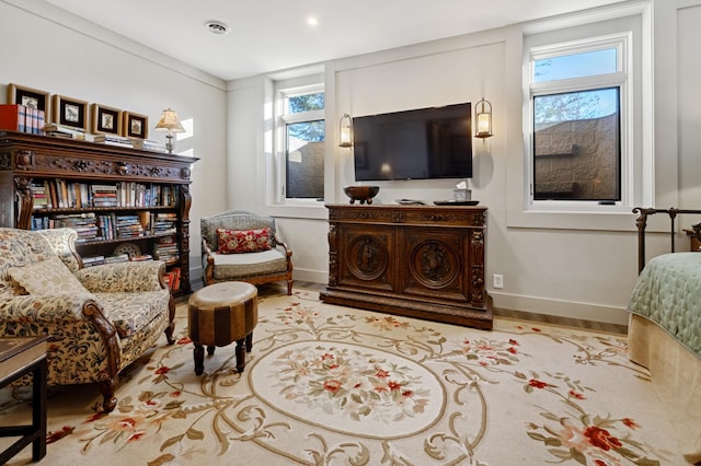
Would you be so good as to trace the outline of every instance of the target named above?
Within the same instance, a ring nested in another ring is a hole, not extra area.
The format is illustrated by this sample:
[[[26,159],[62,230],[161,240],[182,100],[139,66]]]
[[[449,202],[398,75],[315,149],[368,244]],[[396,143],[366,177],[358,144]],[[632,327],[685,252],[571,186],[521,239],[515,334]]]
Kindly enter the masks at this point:
[[[205,286],[285,280],[292,294],[292,251],[278,237],[273,217],[230,210],[199,222]]]

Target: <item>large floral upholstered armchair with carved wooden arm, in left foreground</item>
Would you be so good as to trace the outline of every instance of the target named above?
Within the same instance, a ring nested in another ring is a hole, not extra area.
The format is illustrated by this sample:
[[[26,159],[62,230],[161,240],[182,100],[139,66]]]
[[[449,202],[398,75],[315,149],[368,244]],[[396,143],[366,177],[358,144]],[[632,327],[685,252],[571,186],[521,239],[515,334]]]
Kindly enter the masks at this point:
[[[165,333],[174,301],[161,261],[82,268],[70,229],[0,228],[0,335],[49,335],[48,384],[96,383],[112,411],[119,372]]]

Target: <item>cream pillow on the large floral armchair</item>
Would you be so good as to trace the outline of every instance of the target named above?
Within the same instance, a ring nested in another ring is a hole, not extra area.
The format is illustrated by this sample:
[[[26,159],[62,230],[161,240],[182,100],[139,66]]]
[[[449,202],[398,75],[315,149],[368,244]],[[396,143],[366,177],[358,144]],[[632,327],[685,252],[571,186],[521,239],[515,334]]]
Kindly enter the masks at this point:
[[[58,257],[12,267],[8,269],[8,275],[30,294],[88,293]]]

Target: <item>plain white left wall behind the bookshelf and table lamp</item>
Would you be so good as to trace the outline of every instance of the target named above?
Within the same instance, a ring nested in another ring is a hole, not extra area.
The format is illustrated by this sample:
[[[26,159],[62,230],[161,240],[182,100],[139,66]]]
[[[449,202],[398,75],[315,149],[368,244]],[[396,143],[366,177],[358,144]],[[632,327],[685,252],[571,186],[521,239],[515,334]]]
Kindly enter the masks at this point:
[[[9,83],[100,103],[147,115],[149,138],[161,141],[153,127],[164,108],[174,108],[185,125],[192,120],[193,135],[177,141],[175,152],[200,159],[191,187],[197,281],[199,218],[227,207],[225,83],[42,1],[0,1],[0,103]]]

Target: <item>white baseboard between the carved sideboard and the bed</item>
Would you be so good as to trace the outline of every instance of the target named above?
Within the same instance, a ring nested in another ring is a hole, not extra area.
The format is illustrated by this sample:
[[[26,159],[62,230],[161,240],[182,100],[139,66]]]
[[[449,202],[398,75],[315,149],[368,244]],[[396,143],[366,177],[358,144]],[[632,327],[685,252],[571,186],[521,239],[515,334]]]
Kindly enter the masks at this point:
[[[516,294],[490,291],[494,307],[535,314],[552,315],[565,318],[628,325],[628,312],[622,307],[605,306],[572,301],[545,300],[542,298],[520,296]]]

